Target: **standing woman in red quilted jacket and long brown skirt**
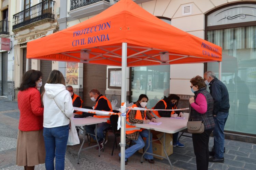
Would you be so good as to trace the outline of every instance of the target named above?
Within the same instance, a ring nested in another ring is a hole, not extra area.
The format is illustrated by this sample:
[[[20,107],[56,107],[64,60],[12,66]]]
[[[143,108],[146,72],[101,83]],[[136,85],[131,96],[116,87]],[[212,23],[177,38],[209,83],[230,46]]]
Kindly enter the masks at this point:
[[[20,111],[17,138],[16,162],[25,170],[33,170],[35,165],[44,164],[43,112],[40,92],[42,73],[29,70],[22,76],[18,87],[18,108]]]

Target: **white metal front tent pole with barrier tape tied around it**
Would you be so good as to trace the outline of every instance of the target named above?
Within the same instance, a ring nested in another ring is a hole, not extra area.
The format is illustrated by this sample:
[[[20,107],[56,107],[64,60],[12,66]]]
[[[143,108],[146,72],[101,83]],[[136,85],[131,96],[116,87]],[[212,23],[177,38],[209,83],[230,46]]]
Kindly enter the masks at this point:
[[[122,88],[121,88],[121,102],[126,102],[126,89],[127,89],[127,43],[122,43]],[[126,115],[121,115],[121,170],[125,169],[125,120]]]

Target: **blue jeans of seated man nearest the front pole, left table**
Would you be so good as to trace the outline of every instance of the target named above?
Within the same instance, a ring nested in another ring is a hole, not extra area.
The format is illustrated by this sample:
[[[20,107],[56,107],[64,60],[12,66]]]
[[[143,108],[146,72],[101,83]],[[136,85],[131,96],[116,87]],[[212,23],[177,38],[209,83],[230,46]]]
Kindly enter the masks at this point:
[[[107,123],[107,122],[102,122],[102,123],[99,123],[97,124],[97,139],[98,141],[101,141],[104,139],[105,135],[104,135],[104,130],[109,128],[110,127],[110,124]],[[96,128],[96,125],[95,124],[91,124],[91,125],[86,125],[85,126],[85,131],[87,133],[90,133],[90,134],[93,134],[95,135],[95,128]],[[95,139],[95,136],[91,136],[94,140]]]

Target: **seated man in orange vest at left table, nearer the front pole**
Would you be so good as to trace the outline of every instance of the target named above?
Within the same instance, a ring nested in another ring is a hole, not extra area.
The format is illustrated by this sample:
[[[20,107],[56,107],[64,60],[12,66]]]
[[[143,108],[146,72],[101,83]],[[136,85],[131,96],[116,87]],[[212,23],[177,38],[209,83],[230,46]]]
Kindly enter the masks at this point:
[[[110,101],[105,96],[101,95],[99,90],[92,89],[89,92],[89,95],[90,95],[91,100],[96,102],[96,104],[94,106],[94,110],[113,112]],[[83,116],[87,117],[88,115],[83,113]],[[109,120],[110,116],[101,116],[101,115],[95,115],[95,114],[90,115],[90,116],[107,119],[107,122],[97,124],[97,140],[99,141],[99,145],[100,145],[100,148],[97,147],[97,150],[102,149],[103,143],[107,142],[107,141],[105,141],[105,135],[104,135],[103,131],[110,127],[110,120]],[[95,124],[85,126],[85,131],[89,134],[95,134],[95,132],[94,132]],[[96,140],[95,136],[92,136],[92,137],[94,140]]]

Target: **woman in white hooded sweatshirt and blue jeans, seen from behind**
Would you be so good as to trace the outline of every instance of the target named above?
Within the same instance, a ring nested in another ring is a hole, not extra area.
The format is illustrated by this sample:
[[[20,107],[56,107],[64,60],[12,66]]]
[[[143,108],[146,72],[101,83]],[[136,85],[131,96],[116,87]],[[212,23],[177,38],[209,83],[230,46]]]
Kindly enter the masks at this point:
[[[46,150],[46,170],[64,170],[65,152],[69,135],[69,118],[73,114],[70,93],[62,73],[53,70],[44,85],[44,143]]]

